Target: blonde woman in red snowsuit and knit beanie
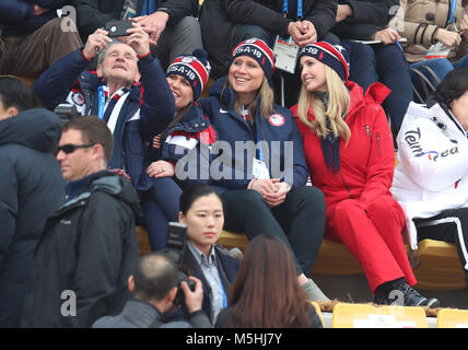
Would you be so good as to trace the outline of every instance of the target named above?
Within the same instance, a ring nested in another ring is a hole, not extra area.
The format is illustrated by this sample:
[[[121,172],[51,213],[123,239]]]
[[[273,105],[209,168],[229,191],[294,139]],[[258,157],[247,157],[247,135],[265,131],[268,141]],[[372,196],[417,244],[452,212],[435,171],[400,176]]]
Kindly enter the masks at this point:
[[[389,191],[395,152],[381,103],[390,91],[375,83],[363,95],[348,80],[342,46],[312,44],[300,59],[303,88],[292,112],[312,183],[325,195],[325,236],[342,242],[361,262],[374,302],[388,304],[398,290],[405,305],[437,307],[436,299],[411,288],[417,280],[401,236],[405,213]]]

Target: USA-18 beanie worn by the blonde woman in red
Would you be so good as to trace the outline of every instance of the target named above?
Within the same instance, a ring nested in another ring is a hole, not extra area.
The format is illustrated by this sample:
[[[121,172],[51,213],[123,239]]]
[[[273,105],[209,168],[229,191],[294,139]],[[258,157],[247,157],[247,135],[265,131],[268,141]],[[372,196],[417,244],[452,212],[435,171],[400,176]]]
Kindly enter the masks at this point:
[[[311,56],[334,69],[342,81],[348,81],[350,75],[350,50],[347,45],[331,45],[327,42],[318,42],[304,46],[299,52],[299,59]]]

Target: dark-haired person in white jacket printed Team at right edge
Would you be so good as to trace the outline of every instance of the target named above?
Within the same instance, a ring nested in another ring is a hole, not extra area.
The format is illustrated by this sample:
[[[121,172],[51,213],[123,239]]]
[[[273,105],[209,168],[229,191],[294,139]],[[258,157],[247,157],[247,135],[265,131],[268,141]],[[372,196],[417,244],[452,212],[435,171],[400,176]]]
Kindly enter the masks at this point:
[[[468,68],[451,71],[426,105],[411,103],[398,133],[391,191],[411,249],[455,243],[468,283]]]

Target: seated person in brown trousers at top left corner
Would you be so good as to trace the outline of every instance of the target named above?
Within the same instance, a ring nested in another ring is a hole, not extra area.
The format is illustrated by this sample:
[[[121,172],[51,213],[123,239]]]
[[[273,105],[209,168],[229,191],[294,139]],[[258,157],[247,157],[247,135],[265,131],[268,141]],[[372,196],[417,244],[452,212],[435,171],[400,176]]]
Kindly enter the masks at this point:
[[[37,78],[82,46],[74,22],[57,18],[67,0],[0,1],[0,74]]]

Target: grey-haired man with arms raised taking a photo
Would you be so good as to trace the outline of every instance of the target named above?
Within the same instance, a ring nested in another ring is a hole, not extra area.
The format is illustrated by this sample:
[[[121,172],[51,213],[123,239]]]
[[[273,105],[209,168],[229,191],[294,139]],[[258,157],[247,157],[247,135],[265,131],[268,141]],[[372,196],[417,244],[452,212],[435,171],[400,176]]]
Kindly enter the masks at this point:
[[[106,121],[115,143],[109,168],[125,171],[133,186],[144,190],[149,188],[143,172],[149,142],[168,125],[175,103],[165,72],[150,51],[149,35],[133,25],[128,44],[113,42],[104,30],[94,32],[83,49],[45,71],[35,81],[34,92],[49,109],[67,102],[81,115]],[[97,52],[96,71],[84,71]]]

